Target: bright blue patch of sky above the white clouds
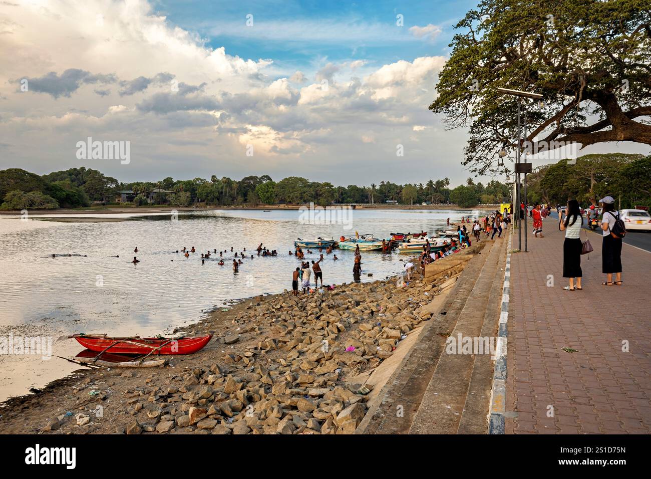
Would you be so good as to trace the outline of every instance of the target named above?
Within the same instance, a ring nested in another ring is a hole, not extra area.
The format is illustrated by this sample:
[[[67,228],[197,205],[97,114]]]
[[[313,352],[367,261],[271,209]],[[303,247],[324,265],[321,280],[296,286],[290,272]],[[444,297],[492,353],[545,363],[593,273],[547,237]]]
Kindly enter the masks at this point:
[[[475,1],[157,1],[156,11],[213,48],[250,59],[273,59],[277,77],[327,62],[367,61],[378,68],[401,59],[448,55],[456,22]],[[246,27],[253,15],[253,28]],[[402,14],[404,26],[396,25]],[[409,28],[436,25],[417,37]]]

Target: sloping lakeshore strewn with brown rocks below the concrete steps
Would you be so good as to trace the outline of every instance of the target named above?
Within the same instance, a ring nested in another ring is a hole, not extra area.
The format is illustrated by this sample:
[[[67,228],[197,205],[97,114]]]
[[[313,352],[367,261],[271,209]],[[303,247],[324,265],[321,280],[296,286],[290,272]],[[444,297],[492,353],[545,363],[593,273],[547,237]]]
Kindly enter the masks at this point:
[[[454,257],[469,259],[483,246]],[[458,261],[449,264],[441,270],[438,263],[439,272],[427,277],[419,271],[410,282],[398,275],[298,297],[285,290],[232,308],[216,307],[194,325],[174,330],[187,336],[214,333],[198,353],[169,356],[171,366],[163,368],[76,370],[36,394],[1,403],[0,429],[353,433],[369,403],[376,403],[387,368],[399,363],[380,368],[383,361],[413,345],[404,340],[432,319],[428,306],[440,303],[443,290],[447,294],[463,270]]]

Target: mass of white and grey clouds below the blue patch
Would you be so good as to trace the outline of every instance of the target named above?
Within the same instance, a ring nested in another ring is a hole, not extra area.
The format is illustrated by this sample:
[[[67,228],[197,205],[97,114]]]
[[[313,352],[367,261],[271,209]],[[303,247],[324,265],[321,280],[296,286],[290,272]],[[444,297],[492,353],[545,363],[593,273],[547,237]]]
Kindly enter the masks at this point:
[[[318,172],[322,181],[350,182],[359,175],[356,181],[363,182],[370,174],[376,181],[413,181],[395,162],[396,144],[404,144],[405,156],[421,167],[432,164],[432,154],[414,147],[417,141],[436,141],[445,167],[450,158],[460,158],[465,145],[464,132],[421,129],[436,121],[427,106],[444,57],[379,66],[364,59],[324,60],[314,70],[281,76],[274,73],[273,59],[210,48],[145,0],[44,5],[46,10],[0,5],[7,18],[3,28],[11,29],[0,35],[0,51],[13,52],[0,70],[0,128],[12,138],[0,169],[42,174],[82,166],[75,144],[92,136],[132,142],[128,166],[83,165],[121,181],[210,177],[215,171],[236,178]],[[102,27],[96,25],[98,12],[104,14]],[[309,23],[300,25],[302,35],[309,35]],[[351,41],[363,33],[353,29]],[[314,38],[326,35],[332,32],[314,32]],[[381,36],[375,30],[368,35]],[[64,76],[70,69],[81,73]],[[59,83],[48,83],[50,72]],[[16,83],[21,78],[46,83],[40,91],[21,93]],[[253,157],[245,156],[248,144]],[[360,160],[365,158],[373,158],[371,173]]]

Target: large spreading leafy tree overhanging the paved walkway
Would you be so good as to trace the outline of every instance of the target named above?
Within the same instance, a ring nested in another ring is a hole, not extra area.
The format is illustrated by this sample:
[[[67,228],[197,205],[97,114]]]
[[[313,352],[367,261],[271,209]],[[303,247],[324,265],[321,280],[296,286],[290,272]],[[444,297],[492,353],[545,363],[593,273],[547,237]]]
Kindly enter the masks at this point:
[[[523,100],[534,149],[651,145],[648,0],[483,0],[456,27],[430,109],[450,128],[469,127],[471,171],[508,172],[499,150],[517,146],[518,100],[497,87],[544,96]]]

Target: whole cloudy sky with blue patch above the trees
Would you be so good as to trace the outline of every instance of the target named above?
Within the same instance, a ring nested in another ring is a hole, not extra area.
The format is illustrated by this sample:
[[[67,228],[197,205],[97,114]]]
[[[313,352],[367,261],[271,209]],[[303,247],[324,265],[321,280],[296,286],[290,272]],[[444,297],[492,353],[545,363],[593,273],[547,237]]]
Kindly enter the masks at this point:
[[[475,3],[0,0],[0,169],[455,186],[467,132],[428,106]],[[648,147],[581,153],[611,151]]]

